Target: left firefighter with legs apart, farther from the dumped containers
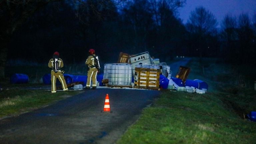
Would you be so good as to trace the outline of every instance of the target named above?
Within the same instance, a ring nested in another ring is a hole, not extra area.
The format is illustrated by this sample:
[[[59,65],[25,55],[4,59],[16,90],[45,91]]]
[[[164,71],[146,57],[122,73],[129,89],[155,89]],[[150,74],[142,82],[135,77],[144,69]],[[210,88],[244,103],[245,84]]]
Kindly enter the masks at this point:
[[[51,82],[52,82],[52,93],[56,93],[56,80],[57,78],[61,82],[61,86],[63,88],[63,91],[68,91],[68,87],[65,81],[65,78],[63,76],[63,73],[61,72],[60,68],[62,68],[63,61],[61,58],[59,58],[59,52],[53,53],[53,58],[49,60],[48,67],[52,68],[51,70]]]

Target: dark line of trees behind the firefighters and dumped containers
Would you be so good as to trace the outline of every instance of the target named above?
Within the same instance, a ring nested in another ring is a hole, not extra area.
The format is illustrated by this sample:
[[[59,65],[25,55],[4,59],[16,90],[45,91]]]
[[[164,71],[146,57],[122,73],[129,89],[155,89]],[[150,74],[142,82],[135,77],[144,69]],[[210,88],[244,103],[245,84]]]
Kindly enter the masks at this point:
[[[120,52],[148,51],[161,62],[177,55],[220,57],[256,64],[256,15],[226,15],[217,28],[203,7],[186,24],[178,17],[185,0],[53,1],[37,10],[8,42],[8,59],[47,63],[54,51],[64,62],[84,63],[90,48],[104,62]]]

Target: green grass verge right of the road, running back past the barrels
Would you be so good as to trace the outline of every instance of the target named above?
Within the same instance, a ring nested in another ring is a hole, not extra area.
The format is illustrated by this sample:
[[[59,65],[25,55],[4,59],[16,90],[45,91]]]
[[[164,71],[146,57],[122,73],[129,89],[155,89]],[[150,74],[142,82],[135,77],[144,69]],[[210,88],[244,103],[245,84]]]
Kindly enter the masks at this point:
[[[209,91],[163,91],[117,144],[255,143],[256,123],[244,115],[256,110],[256,92],[237,83],[235,66],[196,58],[187,66],[188,79],[207,82]]]

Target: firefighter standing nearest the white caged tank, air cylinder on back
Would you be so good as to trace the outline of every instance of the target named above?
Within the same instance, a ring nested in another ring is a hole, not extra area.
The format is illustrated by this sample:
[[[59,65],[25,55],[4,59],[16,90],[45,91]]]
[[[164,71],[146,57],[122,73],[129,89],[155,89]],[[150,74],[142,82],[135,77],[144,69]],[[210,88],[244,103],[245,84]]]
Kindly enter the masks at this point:
[[[88,65],[88,73],[87,73],[87,82],[85,86],[85,90],[90,89],[91,82],[92,82],[92,89],[96,89],[96,80],[97,80],[97,73],[98,73],[98,65],[95,58],[95,50],[90,49],[89,50],[89,56],[85,62],[86,65]]]

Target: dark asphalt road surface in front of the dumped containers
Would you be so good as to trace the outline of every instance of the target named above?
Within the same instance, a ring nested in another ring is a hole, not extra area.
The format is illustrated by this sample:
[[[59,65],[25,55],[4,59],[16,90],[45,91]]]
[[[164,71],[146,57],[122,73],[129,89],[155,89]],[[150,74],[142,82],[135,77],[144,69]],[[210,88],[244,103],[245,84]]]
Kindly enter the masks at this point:
[[[109,94],[111,113],[101,112]],[[0,120],[1,144],[113,144],[160,91],[98,88]]]

